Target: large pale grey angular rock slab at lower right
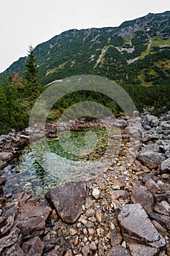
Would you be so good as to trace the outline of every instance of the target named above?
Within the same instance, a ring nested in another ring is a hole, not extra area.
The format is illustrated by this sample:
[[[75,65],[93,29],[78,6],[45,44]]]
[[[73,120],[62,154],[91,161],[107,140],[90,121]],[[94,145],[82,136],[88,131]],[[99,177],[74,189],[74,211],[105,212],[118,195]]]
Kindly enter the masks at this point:
[[[166,245],[166,241],[152,225],[144,208],[139,203],[123,206],[117,218],[123,227],[123,236],[128,235],[134,241],[136,238],[143,244],[155,248]]]

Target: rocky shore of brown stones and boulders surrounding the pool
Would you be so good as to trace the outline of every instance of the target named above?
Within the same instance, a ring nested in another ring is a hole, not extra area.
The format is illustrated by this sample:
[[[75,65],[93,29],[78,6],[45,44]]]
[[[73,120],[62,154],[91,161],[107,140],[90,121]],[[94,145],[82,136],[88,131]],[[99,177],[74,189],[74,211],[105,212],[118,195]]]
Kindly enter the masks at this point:
[[[50,189],[50,206],[26,192],[4,197],[0,177],[0,255],[170,255],[170,112],[118,118],[114,125],[131,138],[115,162],[94,178]],[[55,124],[47,127],[50,138],[55,132]],[[28,143],[28,129],[6,136],[0,137],[1,174]]]

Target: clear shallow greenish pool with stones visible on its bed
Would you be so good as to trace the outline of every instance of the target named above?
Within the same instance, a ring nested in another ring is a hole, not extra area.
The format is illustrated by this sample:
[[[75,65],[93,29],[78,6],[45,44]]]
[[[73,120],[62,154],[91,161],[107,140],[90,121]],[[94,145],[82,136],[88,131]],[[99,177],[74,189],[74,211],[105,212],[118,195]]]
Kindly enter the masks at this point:
[[[4,169],[4,195],[27,191],[43,196],[50,188],[98,175],[119,152],[121,140],[112,135],[115,130],[104,128],[63,132],[59,139],[47,139],[47,154],[41,142],[35,143],[36,154],[27,146]]]

